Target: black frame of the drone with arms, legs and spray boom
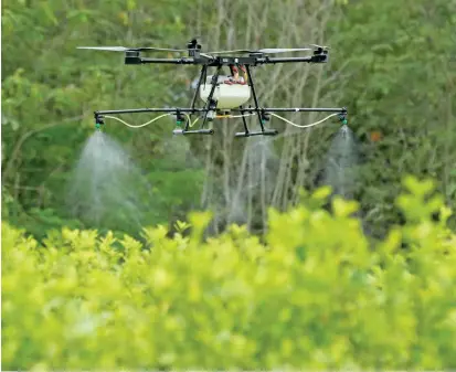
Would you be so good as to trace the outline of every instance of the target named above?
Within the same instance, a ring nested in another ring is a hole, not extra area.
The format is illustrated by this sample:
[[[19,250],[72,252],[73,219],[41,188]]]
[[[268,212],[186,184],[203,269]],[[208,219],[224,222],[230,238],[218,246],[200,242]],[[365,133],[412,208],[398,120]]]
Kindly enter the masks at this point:
[[[244,65],[246,68],[247,75],[247,84],[252,89],[252,96],[254,99],[255,107],[244,108],[240,106],[235,109],[230,109],[230,111],[241,113],[241,114],[256,114],[261,127],[261,131],[251,131],[247,127],[247,123],[244,115],[242,116],[244,131],[237,132],[235,137],[251,137],[251,136],[275,136],[278,134],[276,129],[266,129],[265,123],[269,120],[268,113],[308,113],[308,111],[320,111],[320,113],[339,113],[339,119],[341,121],[346,121],[347,119],[347,108],[306,108],[306,107],[297,107],[297,108],[275,108],[275,107],[267,107],[262,108],[258,104],[258,98],[255,91],[254,81],[252,78],[251,66],[257,65],[265,65],[265,64],[276,64],[276,63],[297,63],[297,62],[307,62],[307,63],[326,63],[328,62],[328,51],[324,47],[317,47],[314,51],[311,56],[305,57],[269,57],[262,52],[252,52],[248,56],[241,56],[241,57],[233,57],[233,56],[213,56],[208,55],[201,52],[201,45],[198,44],[195,40],[191,41],[188,44],[189,57],[180,57],[180,59],[148,59],[141,57],[139,53],[141,51],[147,51],[148,49],[126,49],[125,53],[125,64],[138,65],[138,64],[150,64],[150,63],[159,63],[159,64],[173,64],[173,65],[201,65],[200,77],[198,81],[198,86],[195,88],[191,107],[184,108],[131,108],[131,109],[116,109],[116,110],[98,110],[94,113],[96,126],[99,127],[104,125],[104,115],[109,114],[134,114],[134,113],[172,113],[177,116],[177,123],[182,123],[183,117],[189,115],[189,117],[193,114],[204,115],[204,119],[200,126],[200,129],[189,130],[190,121],[189,119],[185,121],[184,129],[174,129],[174,134],[182,134],[182,135],[213,135],[213,129],[204,129],[209,117],[209,113],[213,113],[218,110],[216,100],[213,99],[213,95],[215,92],[215,87],[218,86],[218,78],[220,72],[223,66],[238,66]],[[197,98],[199,94],[199,89],[201,87],[202,82],[206,79],[206,74],[209,67],[216,67],[215,74],[212,76],[211,79],[211,91],[206,98],[206,102],[203,107],[199,108],[195,107]]]

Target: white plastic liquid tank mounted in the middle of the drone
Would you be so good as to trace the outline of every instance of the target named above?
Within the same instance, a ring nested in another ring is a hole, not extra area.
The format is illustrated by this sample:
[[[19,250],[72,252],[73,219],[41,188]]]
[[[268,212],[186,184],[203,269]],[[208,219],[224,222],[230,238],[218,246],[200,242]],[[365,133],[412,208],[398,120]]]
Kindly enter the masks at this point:
[[[247,84],[223,84],[227,78],[227,76],[219,76],[219,85],[215,86],[213,99],[218,102],[218,109],[237,108],[251,99],[251,87]],[[200,86],[200,98],[204,103],[212,89],[211,79],[212,76],[208,76],[205,84],[202,83]]]

